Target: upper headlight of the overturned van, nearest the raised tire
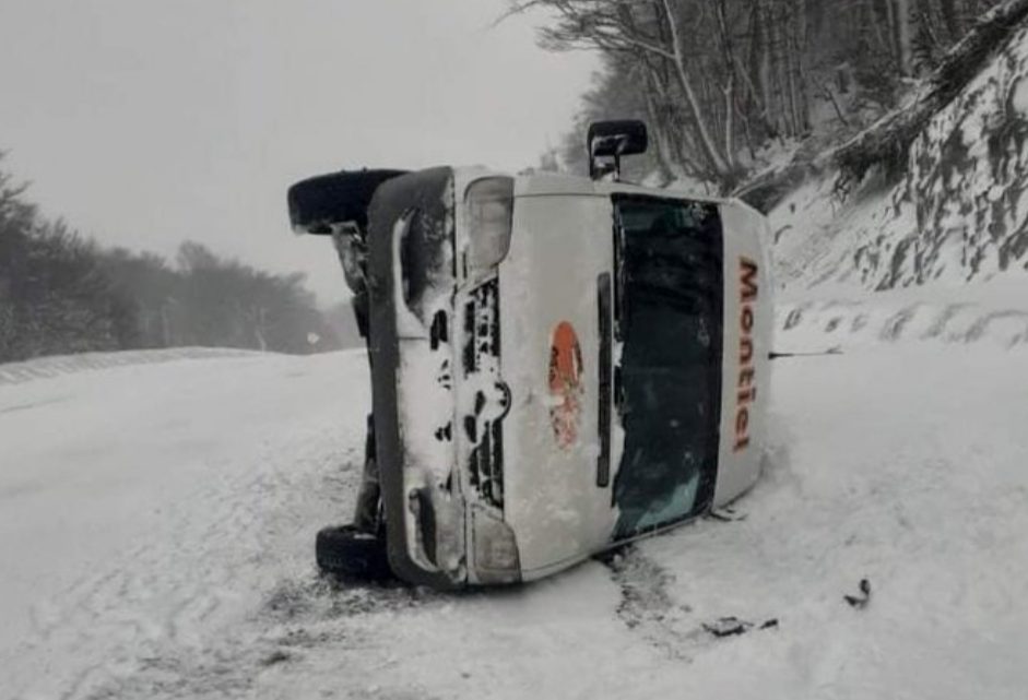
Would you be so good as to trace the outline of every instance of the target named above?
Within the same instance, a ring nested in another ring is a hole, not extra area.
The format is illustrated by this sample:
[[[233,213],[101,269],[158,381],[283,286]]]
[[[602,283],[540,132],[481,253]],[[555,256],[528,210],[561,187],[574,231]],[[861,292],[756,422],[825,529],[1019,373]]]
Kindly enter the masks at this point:
[[[469,262],[477,270],[495,268],[510,250],[513,178],[475,180],[464,194],[471,245]]]

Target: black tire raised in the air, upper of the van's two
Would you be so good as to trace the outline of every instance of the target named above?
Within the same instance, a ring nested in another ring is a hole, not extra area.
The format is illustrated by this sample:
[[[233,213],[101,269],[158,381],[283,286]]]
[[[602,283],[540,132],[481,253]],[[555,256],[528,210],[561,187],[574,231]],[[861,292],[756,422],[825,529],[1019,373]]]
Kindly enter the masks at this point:
[[[319,175],[290,188],[290,222],[309,234],[330,234],[331,224],[367,227],[368,204],[378,186],[404,170],[355,170]]]

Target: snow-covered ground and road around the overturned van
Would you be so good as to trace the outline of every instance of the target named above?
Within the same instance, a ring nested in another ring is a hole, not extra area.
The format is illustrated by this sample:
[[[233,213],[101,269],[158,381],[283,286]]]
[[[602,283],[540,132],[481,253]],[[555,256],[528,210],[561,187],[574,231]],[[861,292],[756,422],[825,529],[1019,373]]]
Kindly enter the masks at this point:
[[[363,355],[165,359],[0,385],[0,698],[1025,697],[1028,345],[782,360],[730,520],[463,595],[316,573]]]

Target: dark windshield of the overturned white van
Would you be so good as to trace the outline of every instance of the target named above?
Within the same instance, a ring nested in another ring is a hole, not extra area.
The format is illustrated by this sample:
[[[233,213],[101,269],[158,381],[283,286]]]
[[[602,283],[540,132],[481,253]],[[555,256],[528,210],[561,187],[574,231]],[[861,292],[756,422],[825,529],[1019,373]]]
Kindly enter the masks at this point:
[[[712,497],[723,253],[713,204],[625,197],[615,211],[621,539],[689,518]]]

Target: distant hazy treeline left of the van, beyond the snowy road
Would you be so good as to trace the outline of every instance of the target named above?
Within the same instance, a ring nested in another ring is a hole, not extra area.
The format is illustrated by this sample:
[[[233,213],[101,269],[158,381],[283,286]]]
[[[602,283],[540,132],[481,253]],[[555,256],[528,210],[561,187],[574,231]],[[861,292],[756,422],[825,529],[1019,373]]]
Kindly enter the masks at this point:
[[[0,361],[189,345],[307,354],[340,337],[304,286],[184,242],[174,263],[104,248],[0,170]]]

